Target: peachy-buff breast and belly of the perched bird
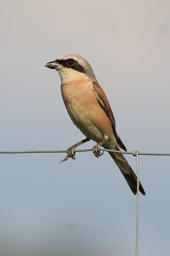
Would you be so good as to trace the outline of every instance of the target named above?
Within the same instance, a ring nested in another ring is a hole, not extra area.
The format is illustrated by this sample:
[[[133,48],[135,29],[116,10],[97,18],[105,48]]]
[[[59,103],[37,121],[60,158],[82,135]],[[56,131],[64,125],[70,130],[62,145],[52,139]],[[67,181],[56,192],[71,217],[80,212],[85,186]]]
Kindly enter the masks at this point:
[[[73,123],[87,138],[99,143],[103,137],[107,137],[108,141],[103,146],[113,147],[116,145],[116,140],[111,122],[100,105],[91,84],[83,83],[81,87],[74,84],[61,86],[67,112]]]

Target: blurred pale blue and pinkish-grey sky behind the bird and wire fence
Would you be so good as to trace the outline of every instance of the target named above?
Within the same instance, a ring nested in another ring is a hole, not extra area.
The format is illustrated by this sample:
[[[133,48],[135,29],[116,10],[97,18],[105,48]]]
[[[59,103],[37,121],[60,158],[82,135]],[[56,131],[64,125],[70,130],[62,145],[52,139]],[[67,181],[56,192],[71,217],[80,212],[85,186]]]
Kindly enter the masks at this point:
[[[92,66],[128,151],[170,152],[169,0],[1,0],[0,21],[1,151],[65,150],[85,138],[59,75],[44,67],[77,54]],[[59,165],[65,156],[0,155],[0,254],[135,255],[136,196],[112,158],[76,153]],[[169,164],[139,155],[139,256],[169,255]]]

